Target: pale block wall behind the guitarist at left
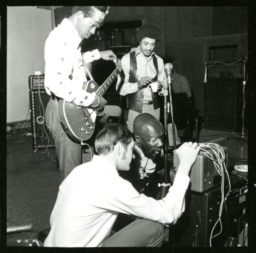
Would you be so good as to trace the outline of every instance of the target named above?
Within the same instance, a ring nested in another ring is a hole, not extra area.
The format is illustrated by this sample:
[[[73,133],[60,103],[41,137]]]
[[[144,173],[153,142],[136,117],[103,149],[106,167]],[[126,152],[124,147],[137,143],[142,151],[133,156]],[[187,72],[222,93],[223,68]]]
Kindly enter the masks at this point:
[[[28,77],[45,72],[44,46],[51,30],[50,10],[7,7],[7,123],[30,118]]]

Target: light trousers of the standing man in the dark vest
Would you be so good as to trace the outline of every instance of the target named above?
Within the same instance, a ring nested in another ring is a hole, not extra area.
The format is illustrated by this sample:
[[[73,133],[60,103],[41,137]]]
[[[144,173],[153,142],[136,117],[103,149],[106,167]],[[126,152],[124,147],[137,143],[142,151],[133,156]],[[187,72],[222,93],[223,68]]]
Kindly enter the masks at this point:
[[[154,109],[153,105],[142,105],[141,113],[149,113],[153,115],[156,119],[160,119],[160,108]],[[134,119],[137,115],[141,114],[133,110],[128,110],[128,122],[125,119],[125,126],[132,131]]]

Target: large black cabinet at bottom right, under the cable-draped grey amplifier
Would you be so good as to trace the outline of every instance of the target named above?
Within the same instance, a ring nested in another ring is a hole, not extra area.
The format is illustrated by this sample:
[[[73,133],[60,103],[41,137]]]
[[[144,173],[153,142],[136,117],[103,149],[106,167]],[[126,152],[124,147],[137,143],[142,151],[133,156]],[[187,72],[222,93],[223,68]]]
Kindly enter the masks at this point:
[[[230,238],[236,238],[238,243],[238,220],[242,221],[244,210],[247,209],[248,185],[246,179],[233,175],[230,181],[231,191],[222,208],[222,228],[219,223],[215,226],[221,204],[220,186],[203,194],[188,191],[185,212],[175,225],[170,226],[169,243],[172,246],[209,247],[210,236],[220,231],[218,236],[211,239],[211,246],[224,246]]]

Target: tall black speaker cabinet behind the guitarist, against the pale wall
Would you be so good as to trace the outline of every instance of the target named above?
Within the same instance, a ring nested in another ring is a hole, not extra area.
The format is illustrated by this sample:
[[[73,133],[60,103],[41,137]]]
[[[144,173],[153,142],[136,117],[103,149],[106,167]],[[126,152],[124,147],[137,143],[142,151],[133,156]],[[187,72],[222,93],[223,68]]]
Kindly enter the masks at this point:
[[[38,149],[53,148],[54,141],[46,127],[45,110],[49,95],[44,87],[45,76],[29,76],[29,105],[31,134],[34,152]]]

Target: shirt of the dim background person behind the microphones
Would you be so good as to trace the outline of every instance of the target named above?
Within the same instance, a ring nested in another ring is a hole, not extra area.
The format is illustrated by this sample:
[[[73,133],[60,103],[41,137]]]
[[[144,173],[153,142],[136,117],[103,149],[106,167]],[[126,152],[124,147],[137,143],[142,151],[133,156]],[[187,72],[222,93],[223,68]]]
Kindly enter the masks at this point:
[[[185,92],[187,94],[187,97],[192,96],[188,79],[176,72],[173,72],[172,74],[172,90],[174,91],[174,93]]]

